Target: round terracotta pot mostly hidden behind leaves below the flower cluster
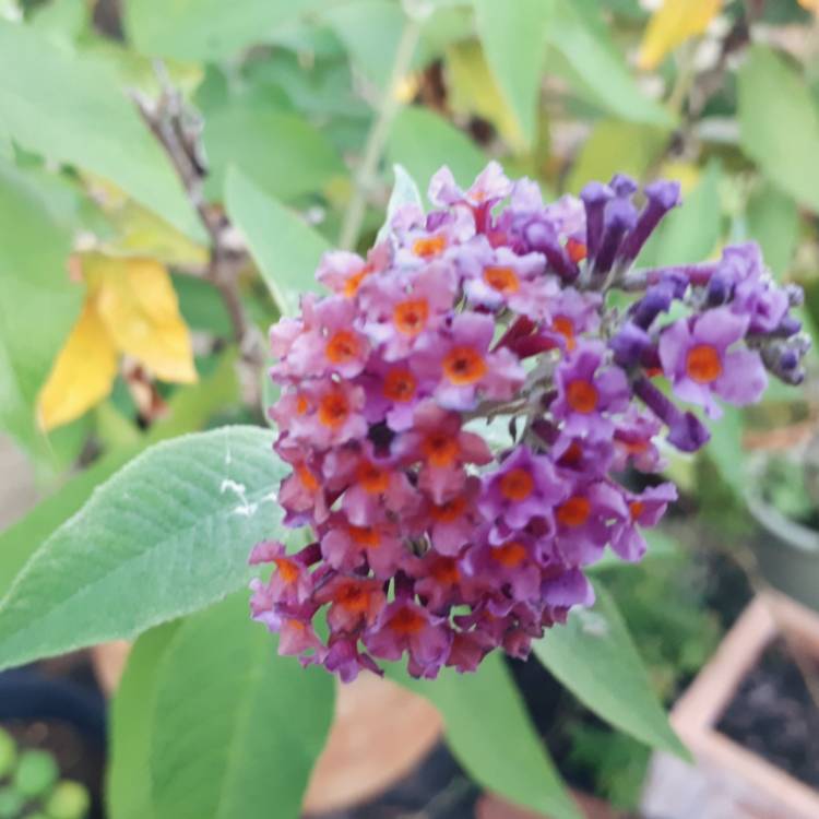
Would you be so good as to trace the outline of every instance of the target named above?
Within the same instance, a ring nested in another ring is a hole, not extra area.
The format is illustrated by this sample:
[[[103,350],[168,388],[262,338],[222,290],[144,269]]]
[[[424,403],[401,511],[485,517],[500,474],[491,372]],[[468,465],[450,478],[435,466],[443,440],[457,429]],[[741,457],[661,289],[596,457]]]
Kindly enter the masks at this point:
[[[103,690],[122,675],[128,643],[92,650]],[[335,721],[305,795],[305,810],[340,810],[367,802],[402,780],[441,736],[440,714],[423,697],[372,674],[339,685]]]

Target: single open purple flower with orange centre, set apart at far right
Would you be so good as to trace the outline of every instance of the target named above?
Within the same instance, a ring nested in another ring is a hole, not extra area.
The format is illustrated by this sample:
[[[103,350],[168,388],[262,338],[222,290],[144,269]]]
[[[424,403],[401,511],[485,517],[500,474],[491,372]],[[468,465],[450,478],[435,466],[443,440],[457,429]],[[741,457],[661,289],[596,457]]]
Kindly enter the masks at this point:
[[[712,418],[722,415],[714,395],[729,404],[752,404],[768,385],[759,353],[728,349],[745,337],[749,319],[726,307],[692,320],[680,319],[660,335],[663,371],[684,401],[699,404]]]

